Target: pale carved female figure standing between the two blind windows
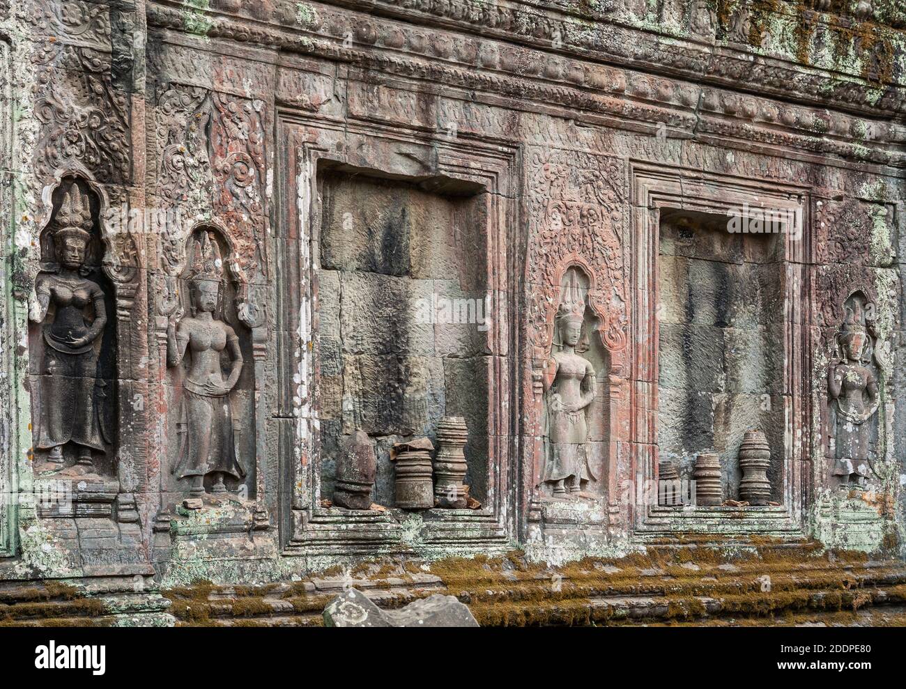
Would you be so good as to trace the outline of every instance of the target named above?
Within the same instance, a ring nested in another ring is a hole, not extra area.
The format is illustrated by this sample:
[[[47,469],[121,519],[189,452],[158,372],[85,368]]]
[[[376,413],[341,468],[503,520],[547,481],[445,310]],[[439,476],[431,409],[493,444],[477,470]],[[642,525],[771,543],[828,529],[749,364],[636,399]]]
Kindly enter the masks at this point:
[[[543,481],[554,484],[554,497],[580,493],[595,478],[588,465],[585,413],[594,398],[594,368],[575,353],[582,334],[584,302],[564,301],[555,321],[560,349],[545,365],[550,449]]]

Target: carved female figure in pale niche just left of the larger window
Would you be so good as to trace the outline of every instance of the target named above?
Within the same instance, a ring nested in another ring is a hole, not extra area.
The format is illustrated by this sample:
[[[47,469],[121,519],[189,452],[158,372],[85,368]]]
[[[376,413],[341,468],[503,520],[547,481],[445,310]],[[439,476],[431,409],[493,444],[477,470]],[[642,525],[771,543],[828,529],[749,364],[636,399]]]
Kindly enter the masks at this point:
[[[167,330],[167,362],[178,366],[189,354],[179,410],[178,459],[172,473],[191,480],[190,493],[206,493],[204,479],[217,474],[212,491],[225,493],[224,477],[245,477],[236,458],[233,415],[229,394],[242,372],[242,351],[236,332],[215,313],[220,304],[223,262],[217,241],[207,232],[195,240],[188,278],[192,315],[170,321]],[[231,359],[224,378],[221,353]]]

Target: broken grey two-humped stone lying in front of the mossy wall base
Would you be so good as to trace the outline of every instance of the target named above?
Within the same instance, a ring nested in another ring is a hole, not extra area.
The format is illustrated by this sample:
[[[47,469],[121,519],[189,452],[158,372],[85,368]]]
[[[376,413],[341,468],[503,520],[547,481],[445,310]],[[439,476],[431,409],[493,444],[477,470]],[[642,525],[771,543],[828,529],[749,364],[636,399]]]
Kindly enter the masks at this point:
[[[477,627],[469,609],[455,596],[435,593],[399,610],[381,610],[357,589],[349,589],[324,608],[324,627]]]

